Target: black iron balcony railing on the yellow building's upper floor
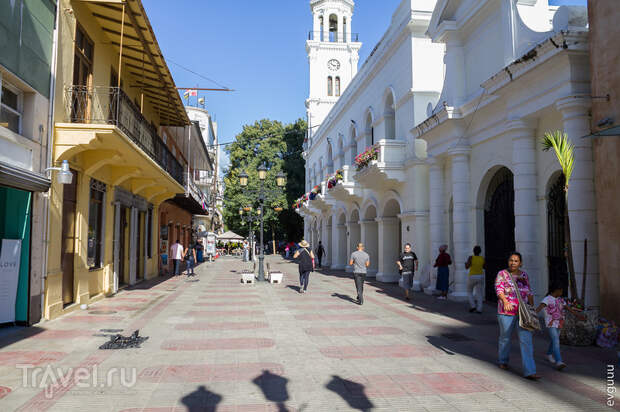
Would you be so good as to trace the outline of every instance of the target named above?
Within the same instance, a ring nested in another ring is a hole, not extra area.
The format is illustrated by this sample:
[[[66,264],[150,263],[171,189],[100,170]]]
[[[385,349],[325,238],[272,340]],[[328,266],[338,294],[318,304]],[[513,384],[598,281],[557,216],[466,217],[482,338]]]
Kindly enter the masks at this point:
[[[131,99],[118,87],[69,86],[65,89],[68,121],[71,123],[112,124],[118,127],[184,186],[184,170]]]

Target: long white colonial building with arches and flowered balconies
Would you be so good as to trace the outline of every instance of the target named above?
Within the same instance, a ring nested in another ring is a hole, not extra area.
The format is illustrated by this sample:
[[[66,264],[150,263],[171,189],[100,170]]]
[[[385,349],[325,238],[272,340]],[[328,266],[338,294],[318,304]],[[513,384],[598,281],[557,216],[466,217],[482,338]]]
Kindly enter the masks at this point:
[[[311,4],[315,13],[335,4],[352,11],[351,1]],[[307,188],[321,191],[299,211],[306,238],[323,241],[331,267],[345,267],[362,241],[372,273],[395,281],[397,254],[411,242],[421,263],[417,286],[430,291],[445,243],[451,296],[460,299],[464,263],[480,245],[494,300],[495,275],[518,250],[543,296],[550,281],[566,282],[562,177],[540,145],[545,132],[561,130],[576,145],[568,210],[577,284],[587,238],[586,303],[597,305],[592,149],[581,138],[590,130],[585,16],[584,8],[547,0],[403,0],[331,111],[309,106],[320,127],[306,148]],[[311,77],[312,70],[311,63]],[[372,145],[377,159],[357,167],[355,156]],[[342,179],[328,189],[337,170]]]

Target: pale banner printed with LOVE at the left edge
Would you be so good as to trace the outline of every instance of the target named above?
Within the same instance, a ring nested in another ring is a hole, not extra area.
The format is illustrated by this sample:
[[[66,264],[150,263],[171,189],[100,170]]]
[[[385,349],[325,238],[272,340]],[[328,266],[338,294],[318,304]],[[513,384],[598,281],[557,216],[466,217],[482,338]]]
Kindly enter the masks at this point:
[[[22,241],[2,239],[0,250],[0,323],[15,322]]]

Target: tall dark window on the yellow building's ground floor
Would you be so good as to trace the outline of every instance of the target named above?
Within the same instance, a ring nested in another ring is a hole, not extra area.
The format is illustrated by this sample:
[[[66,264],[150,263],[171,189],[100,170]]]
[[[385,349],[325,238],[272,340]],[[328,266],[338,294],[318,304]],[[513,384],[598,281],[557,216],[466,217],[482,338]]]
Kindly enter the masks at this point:
[[[88,206],[88,258],[91,269],[103,264],[103,209],[105,207],[105,183],[91,179],[90,202]]]

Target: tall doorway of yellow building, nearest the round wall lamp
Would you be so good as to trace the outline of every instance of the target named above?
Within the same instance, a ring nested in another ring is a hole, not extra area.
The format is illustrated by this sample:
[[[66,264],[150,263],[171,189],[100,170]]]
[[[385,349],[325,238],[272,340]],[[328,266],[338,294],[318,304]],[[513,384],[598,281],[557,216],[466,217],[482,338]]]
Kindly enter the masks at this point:
[[[62,303],[64,306],[75,301],[75,215],[77,206],[77,172],[71,170],[71,183],[63,186],[62,192]]]

